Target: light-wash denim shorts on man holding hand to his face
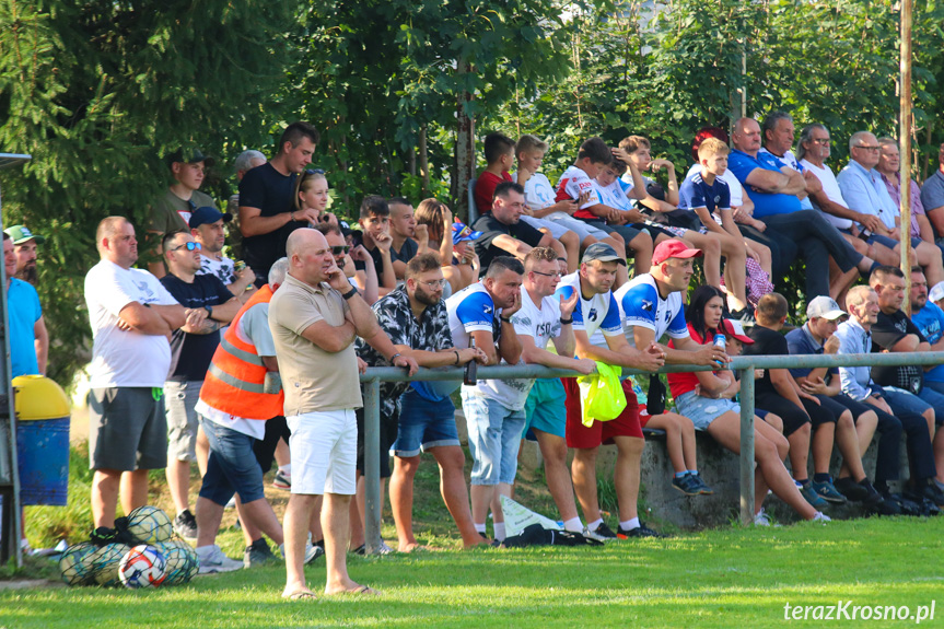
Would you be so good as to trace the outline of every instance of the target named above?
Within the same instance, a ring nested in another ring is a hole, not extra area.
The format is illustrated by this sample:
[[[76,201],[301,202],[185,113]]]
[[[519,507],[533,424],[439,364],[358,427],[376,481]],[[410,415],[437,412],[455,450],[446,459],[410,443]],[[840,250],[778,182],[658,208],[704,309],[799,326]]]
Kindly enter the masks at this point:
[[[471,485],[513,484],[524,409],[511,410],[493,399],[465,391],[462,396],[473,455]]]

